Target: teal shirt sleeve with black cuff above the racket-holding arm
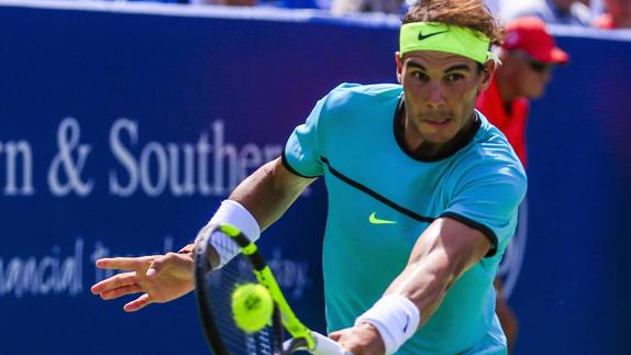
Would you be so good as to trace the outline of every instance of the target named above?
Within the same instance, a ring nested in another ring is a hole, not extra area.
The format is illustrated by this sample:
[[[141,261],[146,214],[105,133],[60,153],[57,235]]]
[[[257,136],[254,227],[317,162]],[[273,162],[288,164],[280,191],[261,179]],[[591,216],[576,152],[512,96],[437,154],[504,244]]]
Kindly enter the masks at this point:
[[[486,256],[501,255],[514,234],[525,190],[525,173],[518,162],[472,168],[456,184],[451,203],[440,217],[479,230],[492,243]]]

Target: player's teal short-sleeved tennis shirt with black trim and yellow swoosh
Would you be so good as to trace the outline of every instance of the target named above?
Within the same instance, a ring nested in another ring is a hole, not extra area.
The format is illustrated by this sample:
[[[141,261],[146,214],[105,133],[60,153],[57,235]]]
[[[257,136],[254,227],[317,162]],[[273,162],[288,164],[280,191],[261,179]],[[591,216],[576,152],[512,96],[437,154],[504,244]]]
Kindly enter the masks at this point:
[[[344,84],[296,127],[283,156],[305,177],[323,176],[329,196],[323,268],[329,331],[352,326],[402,271],[436,218],[481,231],[489,254],[450,289],[398,354],[503,348],[492,281],[514,233],[527,179],[508,141],[477,113],[477,131],[439,160],[407,153],[395,131],[399,85]],[[495,344],[497,343],[497,344]]]

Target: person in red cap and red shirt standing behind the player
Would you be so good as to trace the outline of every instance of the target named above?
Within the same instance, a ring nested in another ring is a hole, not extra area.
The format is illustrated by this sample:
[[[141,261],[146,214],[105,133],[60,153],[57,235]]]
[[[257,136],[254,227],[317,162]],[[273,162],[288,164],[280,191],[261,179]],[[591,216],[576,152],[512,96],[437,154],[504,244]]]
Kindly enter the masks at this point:
[[[499,58],[502,65],[489,88],[476,100],[476,108],[507,136],[527,167],[528,100],[543,96],[553,66],[567,63],[568,55],[556,46],[543,21],[522,18],[507,25]],[[499,278],[495,286],[497,314],[510,348],[517,340],[518,320],[502,296]]]

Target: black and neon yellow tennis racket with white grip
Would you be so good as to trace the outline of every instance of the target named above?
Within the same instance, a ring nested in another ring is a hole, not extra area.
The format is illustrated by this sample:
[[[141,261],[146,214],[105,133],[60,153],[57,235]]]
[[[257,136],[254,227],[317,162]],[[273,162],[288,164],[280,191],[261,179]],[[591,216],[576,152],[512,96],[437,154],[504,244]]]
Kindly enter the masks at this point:
[[[214,233],[223,233],[225,240],[241,251],[215,270],[207,256]],[[264,291],[269,292],[274,301],[272,319],[255,332],[243,331],[233,314],[233,292],[246,284],[264,286]],[[209,224],[200,231],[195,245],[195,286],[201,323],[215,355],[287,355],[297,351],[314,355],[352,355],[298,320],[256,245],[231,224]],[[289,333],[289,340],[285,340],[284,329]]]

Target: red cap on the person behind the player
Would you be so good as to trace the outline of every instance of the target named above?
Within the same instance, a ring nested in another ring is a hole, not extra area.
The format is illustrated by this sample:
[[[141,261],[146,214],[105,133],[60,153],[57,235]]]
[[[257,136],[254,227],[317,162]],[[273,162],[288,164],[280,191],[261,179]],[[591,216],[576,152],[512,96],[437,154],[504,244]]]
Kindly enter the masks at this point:
[[[501,47],[508,51],[521,49],[534,59],[545,64],[565,64],[569,59],[554,43],[545,29],[545,23],[538,18],[521,18],[506,26],[506,38]]]

